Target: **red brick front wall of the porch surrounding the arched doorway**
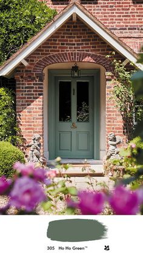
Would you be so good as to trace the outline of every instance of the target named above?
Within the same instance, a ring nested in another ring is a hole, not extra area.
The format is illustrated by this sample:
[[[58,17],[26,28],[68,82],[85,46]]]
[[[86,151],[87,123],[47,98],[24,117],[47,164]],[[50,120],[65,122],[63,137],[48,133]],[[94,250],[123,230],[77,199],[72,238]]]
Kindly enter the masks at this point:
[[[52,63],[85,61],[101,64],[107,71],[112,71],[110,61],[105,58],[112,50],[81,21],[70,20],[26,59],[29,63],[27,67],[21,64],[17,68],[16,108],[19,126],[27,142],[30,142],[33,133],[38,133],[43,138],[44,67]],[[119,54],[115,57],[124,60]],[[107,96],[109,92],[110,87],[107,87]],[[119,116],[113,103],[108,101],[107,132],[115,131],[116,134],[122,134]]]

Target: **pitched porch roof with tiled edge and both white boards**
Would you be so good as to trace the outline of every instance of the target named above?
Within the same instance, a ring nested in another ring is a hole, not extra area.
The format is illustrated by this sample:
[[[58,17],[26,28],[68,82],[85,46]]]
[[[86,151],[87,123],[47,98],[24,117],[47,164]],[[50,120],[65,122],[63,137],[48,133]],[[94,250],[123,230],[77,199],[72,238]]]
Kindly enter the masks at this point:
[[[107,27],[104,26],[95,16],[91,15],[81,4],[73,2],[68,4],[64,10],[56,15],[51,22],[49,22],[39,33],[31,38],[21,49],[12,55],[4,64],[0,67],[0,76],[7,77],[14,69],[23,63],[25,66],[28,64],[24,59],[28,55],[44,43],[47,38],[53,35],[59,27],[62,26],[74,13],[80,18],[90,29],[97,33],[104,41],[110,44],[113,49],[119,52],[122,56],[127,58],[128,61],[135,63],[135,65],[143,70],[141,63],[138,61],[138,55],[121,41],[118,36],[113,34]],[[127,62],[128,62],[127,61]]]

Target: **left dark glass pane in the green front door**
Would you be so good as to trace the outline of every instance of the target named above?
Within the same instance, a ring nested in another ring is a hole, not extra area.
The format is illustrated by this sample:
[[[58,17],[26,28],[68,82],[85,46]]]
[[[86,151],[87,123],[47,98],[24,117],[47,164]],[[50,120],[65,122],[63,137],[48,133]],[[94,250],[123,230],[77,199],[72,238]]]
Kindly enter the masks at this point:
[[[70,81],[59,81],[59,121],[71,122]]]

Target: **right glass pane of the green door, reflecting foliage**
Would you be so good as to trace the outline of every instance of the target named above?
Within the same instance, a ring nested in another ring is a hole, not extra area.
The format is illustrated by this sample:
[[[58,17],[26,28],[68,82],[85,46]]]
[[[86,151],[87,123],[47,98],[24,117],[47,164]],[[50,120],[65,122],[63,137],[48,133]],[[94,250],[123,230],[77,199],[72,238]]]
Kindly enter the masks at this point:
[[[89,121],[88,81],[77,82],[77,121]]]

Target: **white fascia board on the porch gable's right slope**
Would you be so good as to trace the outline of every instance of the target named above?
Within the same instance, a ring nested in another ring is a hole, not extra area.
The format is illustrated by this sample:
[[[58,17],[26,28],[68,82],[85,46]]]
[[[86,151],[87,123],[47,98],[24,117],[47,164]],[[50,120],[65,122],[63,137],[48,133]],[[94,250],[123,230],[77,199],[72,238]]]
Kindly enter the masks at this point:
[[[98,35],[101,36],[104,41],[106,41],[108,44],[110,44],[110,46],[124,55],[124,57],[126,57],[128,60],[135,63],[139,69],[143,70],[143,65],[141,63],[136,63],[136,58],[130,54],[128,50],[121,46],[121,44],[119,44],[112,36],[110,36],[104,29],[102,29],[102,27],[98,26],[98,24],[96,24],[94,21],[92,21],[92,19],[85,15],[85,13],[82,12],[77,6],[75,7],[75,12],[88,26],[91,27],[92,30],[98,33]]]

